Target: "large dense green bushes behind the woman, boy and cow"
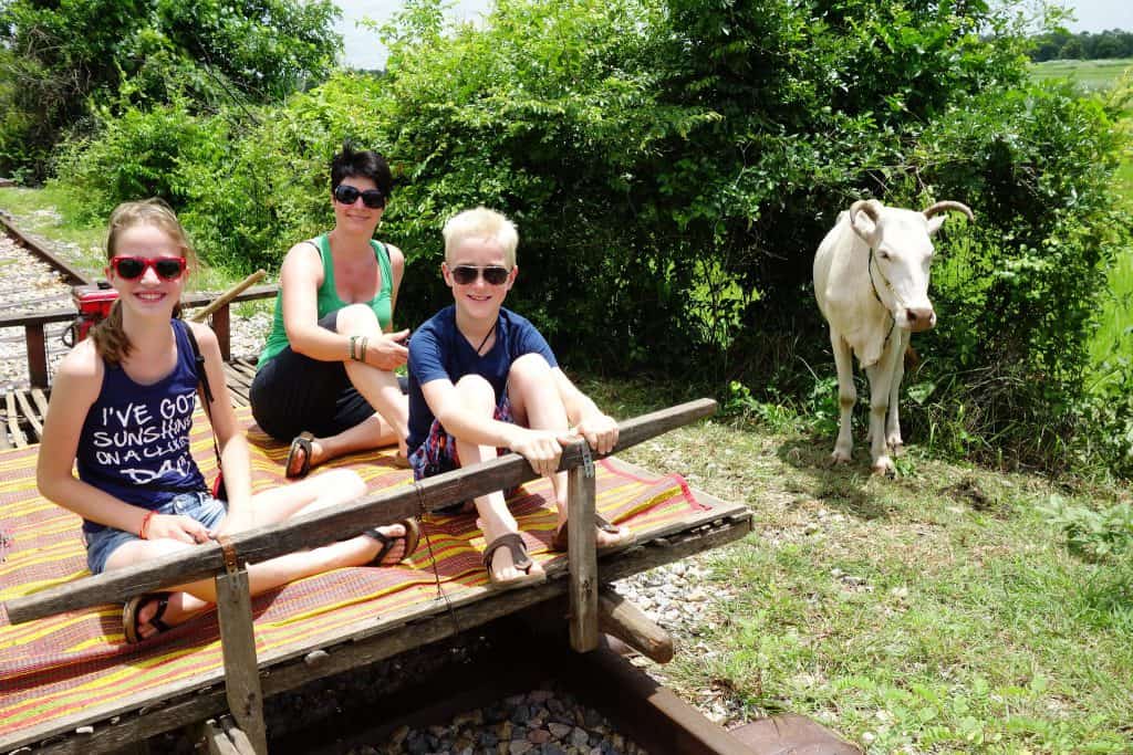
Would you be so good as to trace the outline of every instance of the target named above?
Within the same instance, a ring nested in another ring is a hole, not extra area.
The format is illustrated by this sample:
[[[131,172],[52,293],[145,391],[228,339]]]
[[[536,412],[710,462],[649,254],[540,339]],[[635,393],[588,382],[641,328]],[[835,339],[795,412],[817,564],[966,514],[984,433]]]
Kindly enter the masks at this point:
[[[194,23],[235,44],[236,27],[205,23],[213,6],[161,8],[178,28],[205,14]],[[449,299],[444,220],[483,204],[520,228],[509,306],[564,362],[734,383],[739,414],[823,427],[836,407],[809,291],[819,240],[862,196],[959,199],[978,221],[938,239],[942,317],[914,342],[906,437],[1116,469],[1128,428],[1099,428],[1123,419],[1075,418],[1098,401],[1101,271],[1130,244],[1107,190],[1118,110],[1030,84],[1013,24],[982,2],[500,0],[484,27],[446,27],[438,2],[414,0],[383,31],[378,78],[202,111],[135,71],[61,164],[103,207],[168,194],[214,264],[274,268],[325,229],[326,163],[352,137],[394,169],[381,234],[407,251],[406,323]]]

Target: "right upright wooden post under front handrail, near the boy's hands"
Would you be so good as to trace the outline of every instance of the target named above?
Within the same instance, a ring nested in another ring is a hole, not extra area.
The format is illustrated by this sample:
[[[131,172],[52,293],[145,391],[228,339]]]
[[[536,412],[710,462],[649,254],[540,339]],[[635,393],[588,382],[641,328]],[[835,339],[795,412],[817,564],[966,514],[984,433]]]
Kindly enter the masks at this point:
[[[590,446],[579,441],[583,463],[566,474],[570,564],[570,644],[576,652],[598,647],[598,551],[595,542],[595,474]]]

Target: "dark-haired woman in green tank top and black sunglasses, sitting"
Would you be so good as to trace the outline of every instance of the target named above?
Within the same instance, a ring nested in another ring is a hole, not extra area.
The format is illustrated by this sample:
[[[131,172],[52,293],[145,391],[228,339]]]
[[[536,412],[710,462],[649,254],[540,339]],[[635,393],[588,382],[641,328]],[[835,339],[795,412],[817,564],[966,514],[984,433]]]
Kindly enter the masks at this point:
[[[409,331],[392,331],[404,256],[373,238],[392,182],[382,155],[343,145],[331,161],[334,228],[283,258],[249,398],[261,429],[291,441],[289,478],[392,444],[404,463],[409,409],[394,370]]]

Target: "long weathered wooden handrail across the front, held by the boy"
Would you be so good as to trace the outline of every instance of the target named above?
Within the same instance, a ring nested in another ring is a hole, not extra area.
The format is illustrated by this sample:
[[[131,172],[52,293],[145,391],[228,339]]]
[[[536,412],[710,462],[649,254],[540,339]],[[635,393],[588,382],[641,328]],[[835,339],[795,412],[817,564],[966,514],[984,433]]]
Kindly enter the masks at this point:
[[[627,420],[619,426],[617,445],[612,453],[709,417],[715,411],[715,401],[700,398]],[[566,471],[581,465],[583,446],[585,444],[576,444],[564,448],[559,470]],[[408,516],[451,506],[501,488],[514,487],[536,477],[527,460],[512,453],[483,464],[438,474],[399,490],[365,496],[333,509],[238,532],[228,540],[240,561],[263,561],[317,543],[352,538],[363,530],[392,524]],[[221,546],[202,544],[188,551],[9,600],[8,618],[12,624],[22,624],[62,611],[120,603],[139,593],[214,576],[224,568]]]

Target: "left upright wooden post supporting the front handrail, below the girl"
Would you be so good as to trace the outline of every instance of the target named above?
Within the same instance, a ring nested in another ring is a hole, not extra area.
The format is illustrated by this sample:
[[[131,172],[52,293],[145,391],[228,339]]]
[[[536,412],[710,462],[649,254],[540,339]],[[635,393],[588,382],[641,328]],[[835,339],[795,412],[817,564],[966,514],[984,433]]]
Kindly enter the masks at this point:
[[[264,724],[259,666],[256,662],[256,636],[252,627],[248,570],[236,564],[235,551],[230,548],[225,548],[225,570],[216,575],[216,611],[228,707],[255,752],[266,755],[267,729]]]

